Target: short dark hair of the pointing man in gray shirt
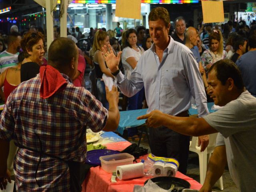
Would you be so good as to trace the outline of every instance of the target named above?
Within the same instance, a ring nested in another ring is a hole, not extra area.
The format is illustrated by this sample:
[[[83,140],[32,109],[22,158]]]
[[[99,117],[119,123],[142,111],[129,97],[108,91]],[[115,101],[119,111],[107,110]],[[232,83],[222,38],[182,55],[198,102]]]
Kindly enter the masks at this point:
[[[234,80],[234,85],[238,89],[244,89],[244,83],[240,70],[232,60],[222,59],[217,61],[211,66],[208,73],[210,73],[213,69],[215,70],[216,76],[222,85],[226,84],[228,78],[232,78]]]

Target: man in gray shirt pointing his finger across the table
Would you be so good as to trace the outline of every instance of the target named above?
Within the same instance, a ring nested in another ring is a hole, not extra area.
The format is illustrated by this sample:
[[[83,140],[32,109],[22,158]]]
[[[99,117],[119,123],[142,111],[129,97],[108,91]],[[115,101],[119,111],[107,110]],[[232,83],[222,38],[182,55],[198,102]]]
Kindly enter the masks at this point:
[[[212,191],[226,163],[240,191],[256,191],[256,98],[244,89],[240,71],[228,59],[212,65],[208,84],[214,104],[224,106],[218,111],[203,118],[178,118],[155,110],[138,119],[191,136],[220,132],[200,192]]]

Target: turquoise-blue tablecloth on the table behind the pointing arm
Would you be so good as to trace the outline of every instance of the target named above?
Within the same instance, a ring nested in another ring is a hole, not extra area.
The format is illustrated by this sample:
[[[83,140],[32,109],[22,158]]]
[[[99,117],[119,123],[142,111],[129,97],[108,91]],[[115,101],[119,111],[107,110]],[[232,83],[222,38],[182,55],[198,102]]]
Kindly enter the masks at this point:
[[[210,113],[214,112],[215,110],[212,110],[212,106],[214,103],[207,103],[207,107]],[[137,120],[136,118],[138,116],[144,115],[147,113],[148,109],[138,109],[138,110],[130,110],[130,111],[121,111],[120,112],[120,122],[118,125],[118,128],[116,129],[116,132],[123,134],[125,128],[130,127],[138,127],[145,123],[145,119],[143,120]],[[190,108],[189,115],[196,115],[198,114],[197,109]]]

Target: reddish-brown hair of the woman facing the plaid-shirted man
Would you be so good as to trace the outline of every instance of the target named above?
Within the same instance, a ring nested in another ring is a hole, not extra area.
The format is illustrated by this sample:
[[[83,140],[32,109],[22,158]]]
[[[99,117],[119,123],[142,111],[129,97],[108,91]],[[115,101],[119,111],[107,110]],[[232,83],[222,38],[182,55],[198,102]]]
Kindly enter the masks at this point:
[[[24,56],[25,58],[28,58],[30,56],[30,54],[28,54],[27,50],[31,50],[32,51],[32,47],[38,43],[38,41],[42,39],[42,41],[44,42],[44,36],[41,32],[33,32],[33,31],[29,31],[27,32],[23,39],[21,40],[20,44],[21,44],[21,48],[24,52]]]

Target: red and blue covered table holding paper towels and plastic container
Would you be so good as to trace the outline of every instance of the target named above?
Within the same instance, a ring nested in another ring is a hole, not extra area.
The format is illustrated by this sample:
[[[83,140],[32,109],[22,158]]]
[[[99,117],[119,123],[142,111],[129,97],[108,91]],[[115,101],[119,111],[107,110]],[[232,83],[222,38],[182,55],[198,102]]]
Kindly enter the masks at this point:
[[[111,138],[113,142],[104,144],[107,149],[112,150],[124,150],[131,143],[124,140],[120,136],[113,132],[105,132],[102,134],[102,138]],[[104,140],[104,139],[103,139]],[[117,141],[117,142],[116,142]],[[100,143],[100,141],[99,141]],[[142,156],[141,159],[146,159],[147,156]],[[112,183],[111,173],[105,172],[101,166],[90,168],[86,180],[82,184],[82,192],[132,192],[134,185],[143,186],[144,182],[151,177],[141,177],[129,180],[117,180],[116,183]],[[202,185],[192,178],[185,176],[184,174],[177,172],[176,177],[187,180],[191,184],[191,189],[199,190]]]

